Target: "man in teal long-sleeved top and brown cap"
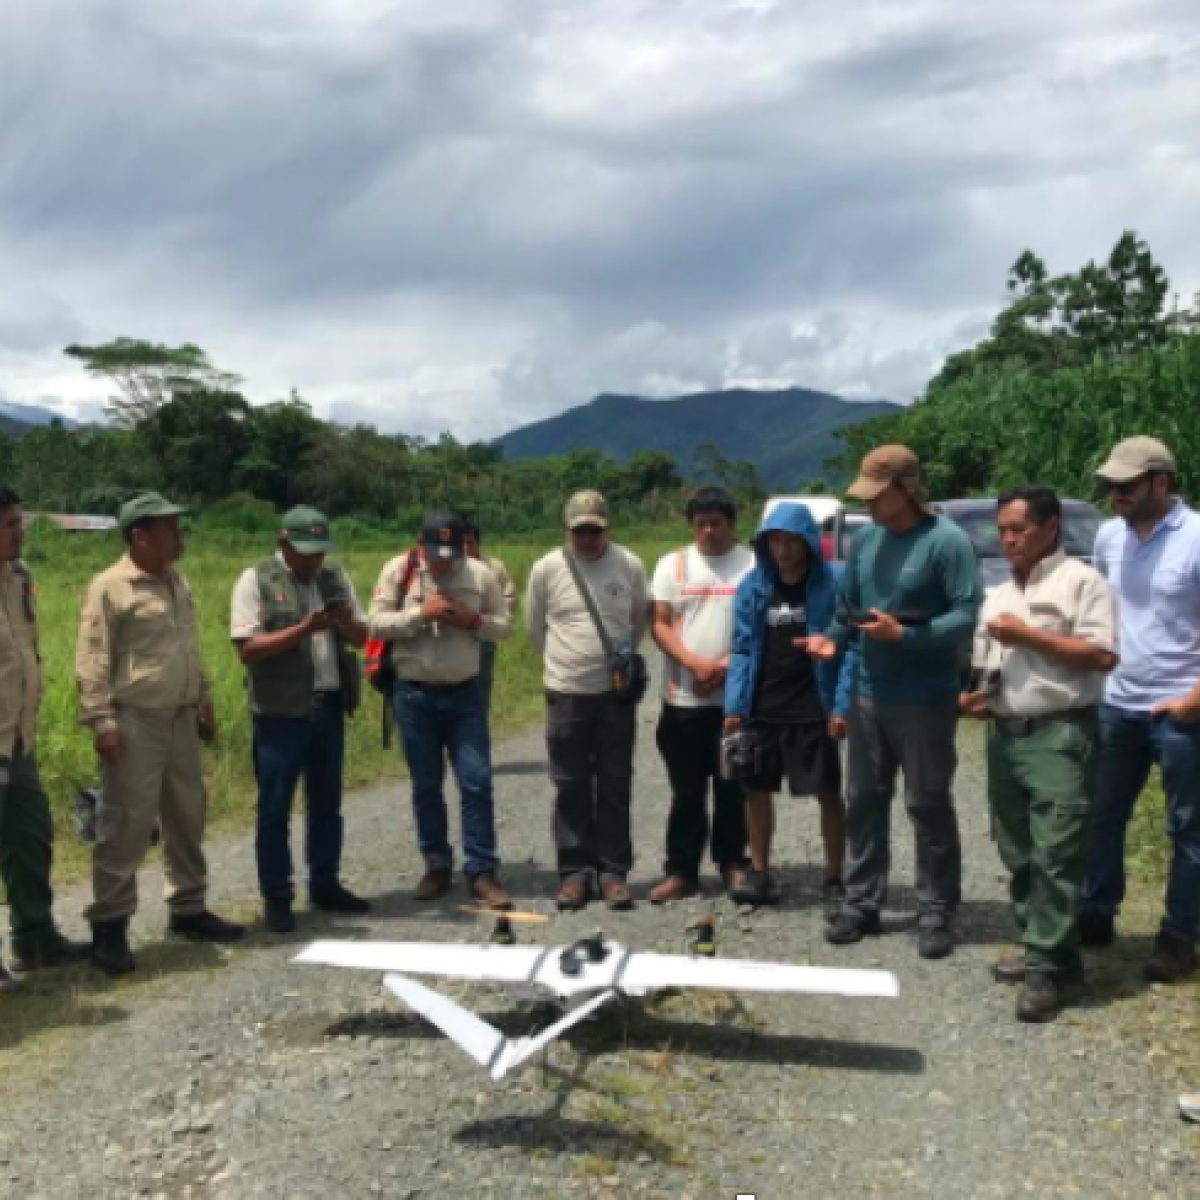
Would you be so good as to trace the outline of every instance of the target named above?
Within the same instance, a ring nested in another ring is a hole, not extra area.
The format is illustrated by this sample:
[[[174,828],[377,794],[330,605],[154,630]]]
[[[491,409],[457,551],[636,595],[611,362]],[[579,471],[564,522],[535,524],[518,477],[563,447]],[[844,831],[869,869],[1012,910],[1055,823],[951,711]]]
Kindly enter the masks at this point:
[[[889,812],[902,770],[917,844],[918,949],[941,959],[954,948],[961,890],[954,731],[960,652],[979,607],[978,565],[966,534],[930,510],[907,446],[872,450],[850,494],[866,503],[875,523],[854,539],[833,625],[806,640],[823,660],[852,637],[862,646],[850,710],[846,904],[826,937],[847,944],[882,931]]]

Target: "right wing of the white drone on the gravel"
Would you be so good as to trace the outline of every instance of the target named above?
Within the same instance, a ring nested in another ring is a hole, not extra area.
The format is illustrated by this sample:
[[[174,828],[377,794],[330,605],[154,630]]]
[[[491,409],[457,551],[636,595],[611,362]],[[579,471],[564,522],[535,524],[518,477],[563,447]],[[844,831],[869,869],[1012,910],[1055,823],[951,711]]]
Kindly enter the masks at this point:
[[[712,988],[719,991],[805,992],[817,996],[894,998],[900,995],[900,985],[890,971],[691,959],[676,954],[632,954],[614,983],[622,991],[630,992],[658,988]]]

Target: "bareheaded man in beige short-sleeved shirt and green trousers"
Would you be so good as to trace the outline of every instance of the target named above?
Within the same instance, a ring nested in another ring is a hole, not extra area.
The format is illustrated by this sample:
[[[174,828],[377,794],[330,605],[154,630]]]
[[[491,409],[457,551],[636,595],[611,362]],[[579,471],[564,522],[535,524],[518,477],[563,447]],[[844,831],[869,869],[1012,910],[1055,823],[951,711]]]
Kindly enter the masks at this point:
[[[1103,576],[1062,552],[1062,504],[1050,488],[1006,492],[996,528],[1013,578],[984,600],[959,703],[990,718],[991,828],[1025,946],[992,976],[1021,984],[1018,1020],[1050,1021],[1082,978],[1075,920],[1116,612]]]

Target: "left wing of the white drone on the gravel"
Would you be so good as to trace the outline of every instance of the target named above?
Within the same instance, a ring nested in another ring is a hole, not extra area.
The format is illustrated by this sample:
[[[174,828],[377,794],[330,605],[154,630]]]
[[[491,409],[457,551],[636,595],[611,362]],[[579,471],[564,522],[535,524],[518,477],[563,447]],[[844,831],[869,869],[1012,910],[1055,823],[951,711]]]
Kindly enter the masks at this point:
[[[313,942],[292,961],[305,966],[433,974],[446,979],[536,983],[554,947],[456,942]]]

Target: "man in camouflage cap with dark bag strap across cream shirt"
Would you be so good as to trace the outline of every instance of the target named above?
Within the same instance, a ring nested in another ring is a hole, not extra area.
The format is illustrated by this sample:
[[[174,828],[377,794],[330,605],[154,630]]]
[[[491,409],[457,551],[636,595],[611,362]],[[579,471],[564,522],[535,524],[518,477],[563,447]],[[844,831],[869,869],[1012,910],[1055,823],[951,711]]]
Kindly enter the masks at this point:
[[[557,904],[563,911],[584,907],[598,875],[605,904],[631,908],[625,880],[634,865],[637,707],[613,690],[610,648],[628,655],[646,632],[646,569],[608,540],[608,505],[599,492],[576,492],[563,518],[568,545],[534,564],[526,598],[526,630],[545,659]]]

